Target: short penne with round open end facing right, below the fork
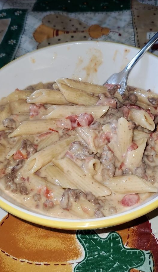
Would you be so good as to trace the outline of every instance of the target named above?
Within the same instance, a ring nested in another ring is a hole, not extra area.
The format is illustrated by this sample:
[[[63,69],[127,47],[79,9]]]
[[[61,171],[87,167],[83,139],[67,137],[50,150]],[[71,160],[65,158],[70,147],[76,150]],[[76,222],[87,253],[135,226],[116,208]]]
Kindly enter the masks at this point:
[[[128,119],[135,122],[136,125],[141,125],[143,128],[147,128],[152,131],[155,128],[153,119],[145,110],[130,109]]]

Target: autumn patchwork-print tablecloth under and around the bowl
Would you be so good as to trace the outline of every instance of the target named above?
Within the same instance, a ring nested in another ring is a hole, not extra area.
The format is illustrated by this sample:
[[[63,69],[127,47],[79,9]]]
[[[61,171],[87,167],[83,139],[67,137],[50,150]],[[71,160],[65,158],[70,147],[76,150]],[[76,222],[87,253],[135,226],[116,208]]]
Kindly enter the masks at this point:
[[[36,48],[77,40],[142,47],[158,30],[157,0],[0,0],[0,67]],[[158,55],[158,44],[151,52]],[[102,229],[37,226],[0,209],[1,272],[156,272],[158,210]]]

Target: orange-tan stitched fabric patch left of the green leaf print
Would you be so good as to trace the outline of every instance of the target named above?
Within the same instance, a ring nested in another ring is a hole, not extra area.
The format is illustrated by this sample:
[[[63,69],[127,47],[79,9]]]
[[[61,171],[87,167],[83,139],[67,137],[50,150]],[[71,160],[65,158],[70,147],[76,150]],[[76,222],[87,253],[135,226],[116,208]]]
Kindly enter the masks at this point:
[[[82,257],[75,231],[38,226],[12,215],[2,222],[0,249],[11,256],[34,262],[56,263]]]

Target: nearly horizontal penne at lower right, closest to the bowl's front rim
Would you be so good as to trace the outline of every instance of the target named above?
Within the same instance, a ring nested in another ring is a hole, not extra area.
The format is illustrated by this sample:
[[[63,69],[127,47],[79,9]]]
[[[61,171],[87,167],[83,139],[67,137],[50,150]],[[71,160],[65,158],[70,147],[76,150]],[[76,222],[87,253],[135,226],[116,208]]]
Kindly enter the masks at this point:
[[[149,181],[136,175],[118,176],[104,183],[116,193],[156,193],[157,188]]]

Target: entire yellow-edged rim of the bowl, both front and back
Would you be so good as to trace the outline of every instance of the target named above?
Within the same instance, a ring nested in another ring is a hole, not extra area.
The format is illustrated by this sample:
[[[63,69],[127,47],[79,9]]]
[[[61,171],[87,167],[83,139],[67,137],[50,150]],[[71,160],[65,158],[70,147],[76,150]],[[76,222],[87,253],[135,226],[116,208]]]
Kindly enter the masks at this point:
[[[117,43],[117,42],[106,42],[106,41],[76,41],[76,42],[67,42],[66,44],[65,43],[61,43],[59,45],[51,45],[51,46],[47,46],[47,47],[44,47],[44,48],[41,48],[41,49],[38,49],[38,51],[44,51],[46,50],[47,48],[54,48],[54,47],[57,47],[57,46],[62,46],[62,45],[74,45],[74,44],[82,44],[82,43],[113,43],[113,44],[119,44],[119,45],[122,45],[122,46],[127,46],[127,47],[130,47],[130,48],[136,48],[138,50],[140,50],[140,48],[137,48],[137,47],[134,47],[134,46],[131,46],[131,45],[125,45],[125,44],[122,44],[122,43]],[[11,63],[13,63],[14,61],[17,61],[18,59],[20,58],[23,58],[23,57],[26,57],[27,55],[31,55],[33,54],[34,52],[36,52],[36,50],[34,51],[31,51],[23,56],[20,56],[18,57],[17,59],[7,63],[5,66],[3,66],[0,70],[2,70],[3,68],[5,68],[6,66],[8,65],[11,65]],[[153,55],[152,53],[150,52],[147,52],[147,54],[150,54],[151,56],[153,57],[158,57],[156,55]],[[32,222],[34,224],[39,224],[39,225],[42,225],[42,226],[46,226],[46,227],[53,227],[53,228],[57,228],[57,229],[65,229],[65,230],[82,230],[82,229],[97,229],[97,228],[104,228],[104,227],[110,227],[110,226],[115,226],[115,225],[119,225],[119,224],[123,224],[125,222],[128,222],[128,221],[131,221],[135,218],[138,218],[142,215],[145,215],[147,214],[148,212],[151,212],[153,211],[154,209],[156,209],[158,207],[158,199],[156,199],[155,201],[153,201],[152,203],[150,204],[147,204],[145,205],[144,207],[140,207],[138,208],[138,210],[136,211],[131,211],[129,210],[129,213],[128,214],[122,214],[122,215],[116,215],[115,217],[113,218],[105,218],[105,219],[102,219],[102,220],[95,220],[94,221],[73,221],[73,222],[67,222],[67,221],[62,221],[61,218],[60,221],[57,221],[57,218],[56,220],[53,220],[53,217],[50,219],[46,219],[46,218],[42,218],[40,217],[40,215],[38,216],[37,215],[30,215],[26,212],[23,212],[23,211],[20,211],[16,208],[14,208],[13,206],[11,205],[8,205],[7,203],[5,203],[4,201],[2,201],[0,199],[0,207],[2,209],[4,209],[5,211],[11,213],[12,215],[15,215],[23,220],[26,220],[26,221],[29,221],[29,222]]]

